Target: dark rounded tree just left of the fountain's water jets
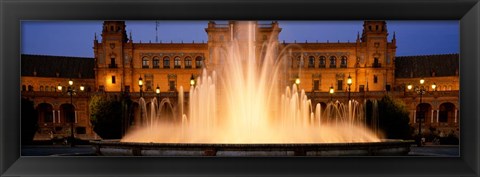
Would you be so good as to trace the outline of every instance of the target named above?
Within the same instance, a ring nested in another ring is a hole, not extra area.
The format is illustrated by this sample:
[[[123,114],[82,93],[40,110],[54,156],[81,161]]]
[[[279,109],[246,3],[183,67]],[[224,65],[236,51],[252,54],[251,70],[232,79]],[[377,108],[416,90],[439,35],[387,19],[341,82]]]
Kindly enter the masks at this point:
[[[122,137],[122,103],[106,96],[93,96],[89,104],[90,122],[103,139]]]

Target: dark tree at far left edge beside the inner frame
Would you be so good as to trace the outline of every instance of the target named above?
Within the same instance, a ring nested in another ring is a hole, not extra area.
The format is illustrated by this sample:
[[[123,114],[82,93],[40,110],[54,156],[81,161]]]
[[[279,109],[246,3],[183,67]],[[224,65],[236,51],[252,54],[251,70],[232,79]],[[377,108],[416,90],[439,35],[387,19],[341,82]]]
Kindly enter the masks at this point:
[[[32,143],[33,137],[38,129],[37,111],[34,108],[33,101],[22,98],[21,102],[21,141],[22,144],[29,144]]]

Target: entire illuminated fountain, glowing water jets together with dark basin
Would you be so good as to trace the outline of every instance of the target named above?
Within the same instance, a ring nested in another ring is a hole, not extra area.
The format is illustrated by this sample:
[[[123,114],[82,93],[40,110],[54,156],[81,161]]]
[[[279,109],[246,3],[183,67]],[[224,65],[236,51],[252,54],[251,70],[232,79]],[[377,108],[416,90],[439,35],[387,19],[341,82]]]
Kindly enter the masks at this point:
[[[275,41],[259,58],[254,22],[237,22],[231,41],[214,52],[215,68],[204,68],[190,88],[188,111],[183,87],[178,105],[145,100],[141,127],[120,141],[92,142],[102,155],[289,156],[404,155],[411,142],[382,141],[366,127],[364,104],[332,101],[322,109],[303,89],[285,84],[288,48],[275,55]],[[283,88],[283,89],[282,89]],[[160,105],[160,106],[159,106]],[[163,105],[174,110],[168,118]]]

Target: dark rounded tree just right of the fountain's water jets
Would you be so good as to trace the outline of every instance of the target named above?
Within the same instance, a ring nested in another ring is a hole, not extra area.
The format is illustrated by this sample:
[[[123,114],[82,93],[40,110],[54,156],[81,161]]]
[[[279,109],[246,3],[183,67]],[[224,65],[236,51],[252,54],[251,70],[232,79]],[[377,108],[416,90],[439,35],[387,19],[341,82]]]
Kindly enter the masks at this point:
[[[402,100],[384,96],[378,102],[378,125],[388,139],[411,139],[408,109]]]

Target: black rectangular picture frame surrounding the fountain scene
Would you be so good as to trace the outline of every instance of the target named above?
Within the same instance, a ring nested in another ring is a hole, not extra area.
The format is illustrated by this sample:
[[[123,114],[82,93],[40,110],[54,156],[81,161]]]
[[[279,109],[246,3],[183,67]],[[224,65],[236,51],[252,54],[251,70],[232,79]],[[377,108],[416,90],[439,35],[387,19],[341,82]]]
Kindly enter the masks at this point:
[[[1,0],[2,176],[479,176],[478,0]],[[22,20],[459,20],[460,157],[21,157]]]

